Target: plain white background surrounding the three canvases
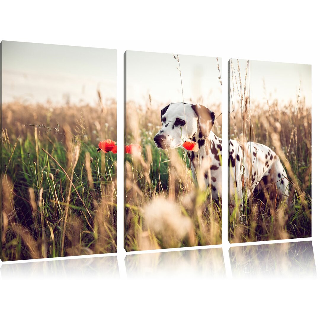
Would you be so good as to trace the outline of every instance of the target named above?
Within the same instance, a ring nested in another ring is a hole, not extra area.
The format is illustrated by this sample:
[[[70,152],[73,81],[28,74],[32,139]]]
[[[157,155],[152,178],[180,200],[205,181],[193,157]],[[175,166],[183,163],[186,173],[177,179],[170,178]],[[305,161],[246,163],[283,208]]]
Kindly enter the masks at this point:
[[[229,58],[312,64],[313,248],[319,266],[319,35],[318,8],[311,1],[253,4],[228,1],[1,2],[0,39],[117,49],[118,181],[122,181],[123,53],[141,50],[222,57],[224,110]],[[223,113],[227,123],[227,112]],[[224,145],[227,126],[223,127]],[[224,147],[226,150],[226,146]],[[224,177],[227,167],[224,165]],[[224,189],[227,180],[224,179]],[[225,196],[225,195],[224,195]],[[118,188],[118,203],[123,198]],[[226,198],[224,197],[226,200]],[[226,203],[226,201],[224,203]],[[121,203],[121,202],[120,202]],[[225,207],[226,209],[226,207]],[[225,210],[224,209],[224,210]],[[225,220],[226,217],[224,217]],[[118,208],[118,230],[122,231]],[[226,225],[226,224],[224,224]],[[224,238],[226,233],[224,232]],[[120,237],[121,238],[121,237]],[[122,248],[122,238],[118,248]],[[226,252],[228,247],[224,247]],[[295,277],[236,280],[176,276],[127,279],[124,251],[120,277],[35,275],[2,279],[1,318],[308,318],[318,316],[319,282]],[[3,266],[2,266],[3,267]],[[1,269],[0,269],[1,271]],[[316,290],[317,289],[317,290]],[[316,296],[317,294],[317,296]]]

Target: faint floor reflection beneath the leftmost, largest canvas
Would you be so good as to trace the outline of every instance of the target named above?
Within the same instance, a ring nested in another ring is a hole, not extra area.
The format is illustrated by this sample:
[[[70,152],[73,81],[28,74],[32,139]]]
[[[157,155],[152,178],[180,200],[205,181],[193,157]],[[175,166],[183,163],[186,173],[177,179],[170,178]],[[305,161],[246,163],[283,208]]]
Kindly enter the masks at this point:
[[[116,256],[88,257],[68,260],[30,261],[1,266],[1,276],[7,278],[119,278]]]

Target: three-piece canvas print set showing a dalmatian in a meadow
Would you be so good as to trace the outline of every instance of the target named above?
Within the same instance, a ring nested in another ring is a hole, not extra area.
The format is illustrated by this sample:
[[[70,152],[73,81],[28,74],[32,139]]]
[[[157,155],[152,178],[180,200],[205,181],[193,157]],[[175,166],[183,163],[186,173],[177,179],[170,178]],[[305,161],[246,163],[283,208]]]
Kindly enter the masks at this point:
[[[311,65],[126,51],[123,166],[116,50],[1,55],[2,261],[311,237]]]

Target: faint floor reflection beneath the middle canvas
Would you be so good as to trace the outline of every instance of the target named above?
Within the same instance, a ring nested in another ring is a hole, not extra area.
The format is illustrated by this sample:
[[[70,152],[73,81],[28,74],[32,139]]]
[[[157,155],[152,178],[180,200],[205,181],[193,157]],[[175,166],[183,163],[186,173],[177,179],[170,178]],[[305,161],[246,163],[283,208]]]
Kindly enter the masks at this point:
[[[125,266],[128,278],[226,275],[222,248],[131,254]]]

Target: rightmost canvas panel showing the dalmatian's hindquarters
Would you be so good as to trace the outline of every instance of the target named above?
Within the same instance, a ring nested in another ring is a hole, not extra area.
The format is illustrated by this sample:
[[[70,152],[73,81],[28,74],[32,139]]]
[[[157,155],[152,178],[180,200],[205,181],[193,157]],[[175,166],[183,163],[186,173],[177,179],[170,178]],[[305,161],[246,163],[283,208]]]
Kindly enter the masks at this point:
[[[311,65],[228,63],[228,239],[311,237]]]

